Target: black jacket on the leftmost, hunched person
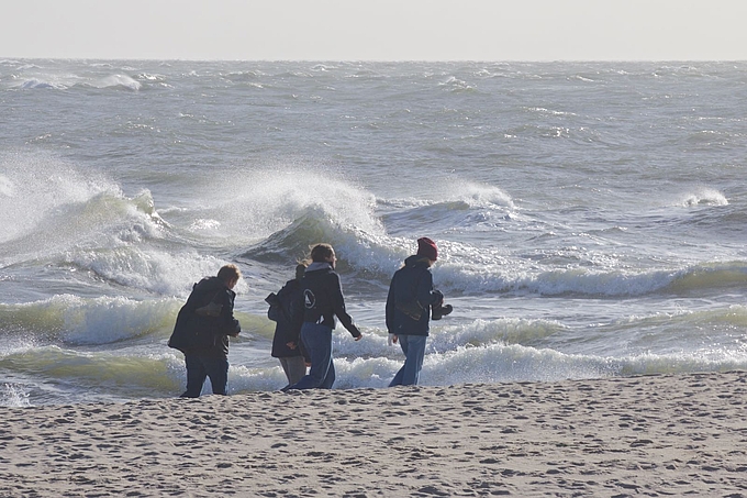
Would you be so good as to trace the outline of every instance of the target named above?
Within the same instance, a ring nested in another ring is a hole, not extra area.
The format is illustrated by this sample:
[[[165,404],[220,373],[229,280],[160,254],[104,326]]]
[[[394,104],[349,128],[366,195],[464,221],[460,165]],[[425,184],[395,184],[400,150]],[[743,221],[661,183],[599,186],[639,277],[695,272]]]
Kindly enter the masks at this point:
[[[179,310],[169,346],[186,354],[227,357],[228,335],[236,336],[242,328],[233,316],[236,292],[218,277],[205,277],[192,287],[187,302]],[[198,310],[211,306],[216,316]]]

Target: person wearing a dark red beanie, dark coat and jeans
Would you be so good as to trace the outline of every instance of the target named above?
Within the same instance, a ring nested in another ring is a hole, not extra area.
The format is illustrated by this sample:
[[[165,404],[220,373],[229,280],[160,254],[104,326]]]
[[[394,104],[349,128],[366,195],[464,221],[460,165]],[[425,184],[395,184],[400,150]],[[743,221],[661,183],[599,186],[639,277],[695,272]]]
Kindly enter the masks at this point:
[[[417,254],[408,257],[404,266],[394,273],[387,295],[387,330],[390,343],[400,343],[404,365],[389,384],[416,385],[423,368],[425,342],[430,320],[448,314],[451,307],[442,307],[444,295],[433,286],[431,266],[438,258],[438,247],[428,237],[417,240]]]

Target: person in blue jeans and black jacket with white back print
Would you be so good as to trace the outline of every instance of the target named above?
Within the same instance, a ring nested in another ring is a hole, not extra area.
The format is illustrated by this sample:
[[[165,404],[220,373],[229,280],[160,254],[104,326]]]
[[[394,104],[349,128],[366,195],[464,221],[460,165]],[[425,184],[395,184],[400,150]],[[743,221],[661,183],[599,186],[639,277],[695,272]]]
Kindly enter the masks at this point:
[[[302,322],[301,341],[311,359],[309,374],[287,389],[331,389],[335,383],[335,365],[332,358],[332,330],[335,317],[356,341],[363,334],[345,311],[345,298],[335,273],[337,257],[330,244],[316,244],[311,250],[311,264],[301,280],[303,309],[296,319]]]

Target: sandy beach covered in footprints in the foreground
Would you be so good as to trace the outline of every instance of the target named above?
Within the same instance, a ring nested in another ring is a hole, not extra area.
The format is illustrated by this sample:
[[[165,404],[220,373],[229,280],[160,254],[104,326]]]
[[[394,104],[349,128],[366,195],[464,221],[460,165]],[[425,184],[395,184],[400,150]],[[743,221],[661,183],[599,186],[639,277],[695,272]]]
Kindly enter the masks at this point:
[[[0,496],[747,496],[747,373],[2,408]]]

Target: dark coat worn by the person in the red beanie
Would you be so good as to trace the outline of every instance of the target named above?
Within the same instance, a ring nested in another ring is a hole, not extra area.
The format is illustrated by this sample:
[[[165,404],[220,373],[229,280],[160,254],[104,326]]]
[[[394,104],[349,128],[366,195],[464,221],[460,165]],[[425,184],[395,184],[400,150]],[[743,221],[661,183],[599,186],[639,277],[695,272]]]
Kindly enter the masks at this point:
[[[433,287],[427,259],[408,257],[389,285],[386,311],[389,333],[428,335],[432,307],[443,300],[444,295]]]

